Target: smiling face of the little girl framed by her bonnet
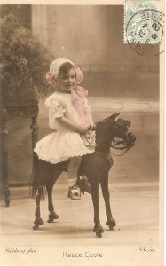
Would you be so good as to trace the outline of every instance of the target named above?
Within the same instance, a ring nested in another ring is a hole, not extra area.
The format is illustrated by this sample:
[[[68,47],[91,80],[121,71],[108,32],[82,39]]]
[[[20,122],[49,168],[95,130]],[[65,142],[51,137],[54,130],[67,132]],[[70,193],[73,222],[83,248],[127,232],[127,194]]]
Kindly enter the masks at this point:
[[[70,92],[75,89],[76,79],[75,79],[75,69],[70,68],[66,73],[62,71],[59,72],[59,90],[63,90],[64,92]]]

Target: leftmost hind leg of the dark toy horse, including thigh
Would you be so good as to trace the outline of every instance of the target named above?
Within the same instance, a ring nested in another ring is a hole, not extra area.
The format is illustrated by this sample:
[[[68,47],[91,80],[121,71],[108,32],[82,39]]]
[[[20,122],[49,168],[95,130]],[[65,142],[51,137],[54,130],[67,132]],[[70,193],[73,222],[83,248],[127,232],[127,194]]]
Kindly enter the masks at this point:
[[[43,187],[47,184],[48,180],[53,174],[53,165],[49,162],[38,160],[37,161],[38,176],[36,176],[36,212],[33,229],[39,228],[39,225],[43,225],[43,220],[40,215],[40,200],[42,198]]]

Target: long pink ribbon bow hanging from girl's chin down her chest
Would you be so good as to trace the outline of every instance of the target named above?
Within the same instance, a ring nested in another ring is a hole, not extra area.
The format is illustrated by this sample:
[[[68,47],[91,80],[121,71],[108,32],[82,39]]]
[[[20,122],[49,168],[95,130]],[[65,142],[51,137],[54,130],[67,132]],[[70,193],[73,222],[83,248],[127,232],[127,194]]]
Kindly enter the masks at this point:
[[[83,121],[83,124],[88,127],[90,123],[84,107],[84,97],[86,96],[88,96],[88,90],[85,90],[83,87],[77,86],[75,90],[71,91],[72,104],[75,106],[75,109]]]

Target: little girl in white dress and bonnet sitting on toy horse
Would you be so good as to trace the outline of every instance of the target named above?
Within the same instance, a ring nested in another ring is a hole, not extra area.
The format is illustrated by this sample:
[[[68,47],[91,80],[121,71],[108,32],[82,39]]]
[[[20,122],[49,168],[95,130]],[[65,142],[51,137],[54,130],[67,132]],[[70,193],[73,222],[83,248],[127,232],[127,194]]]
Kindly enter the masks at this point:
[[[39,159],[50,163],[70,159],[68,197],[81,200],[80,189],[75,185],[77,170],[81,156],[94,152],[92,145],[84,144],[82,136],[93,126],[86,98],[88,90],[77,86],[83,80],[83,73],[70,59],[55,59],[46,79],[56,89],[44,103],[49,108],[49,126],[56,131],[37,142],[34,151]]]

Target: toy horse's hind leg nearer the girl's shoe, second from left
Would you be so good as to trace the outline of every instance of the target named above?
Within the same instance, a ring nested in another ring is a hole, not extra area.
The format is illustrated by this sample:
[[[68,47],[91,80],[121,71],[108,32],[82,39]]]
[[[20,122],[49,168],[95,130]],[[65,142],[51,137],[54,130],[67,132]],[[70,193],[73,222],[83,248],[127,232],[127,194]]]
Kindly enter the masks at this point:
[[[59,215],[57,215],[55,213],[54,207],[53,207],[53,202],[52,202],[52,189],[53,189],[53,186],[54,186],[55,182],[59,178],[61,172],[62,172],[62,170],[56,169],[56,171],[53,174],[53,176],[51,176],[49,183],[46,184],[46,189],[47,189],[47,194],[48,194],[48,209],[50,211],[48,223],[52,223],[54,219],[58,219],[59,218]]]

